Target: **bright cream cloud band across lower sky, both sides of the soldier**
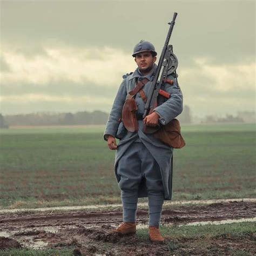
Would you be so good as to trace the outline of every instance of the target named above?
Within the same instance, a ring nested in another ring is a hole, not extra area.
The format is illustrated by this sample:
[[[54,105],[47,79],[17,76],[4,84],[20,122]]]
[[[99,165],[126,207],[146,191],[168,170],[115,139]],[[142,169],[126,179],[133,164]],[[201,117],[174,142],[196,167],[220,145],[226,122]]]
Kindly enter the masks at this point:
[[[110,111],[122,75],[136,68],[114,48],[44,46],[44,54],[3,50],[2,111]],[[184,104],[196,114],[236,113],[255,106],[255,62],[215,63],[210,56],[178,67]],[[16,110],[15,110],[16,109]],[[30,109],[30,110],[29,110]]]

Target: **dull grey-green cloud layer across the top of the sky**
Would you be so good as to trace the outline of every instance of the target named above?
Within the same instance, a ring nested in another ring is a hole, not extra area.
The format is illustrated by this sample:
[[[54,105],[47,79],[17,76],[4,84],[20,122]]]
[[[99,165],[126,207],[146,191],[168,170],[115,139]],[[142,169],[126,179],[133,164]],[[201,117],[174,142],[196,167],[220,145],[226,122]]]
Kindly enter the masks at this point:
[[[134,3],[2,1],[2,42],[22,45],[28,54],[56,42],[131,52],[146,39],[160,52],[167,22],[177,11],[171,42],[183,63],[192,56],[211,55],[216,63],[232,63],[255,55],[255,1],[136,1],[136,9],[153,19],[134,11]]]

